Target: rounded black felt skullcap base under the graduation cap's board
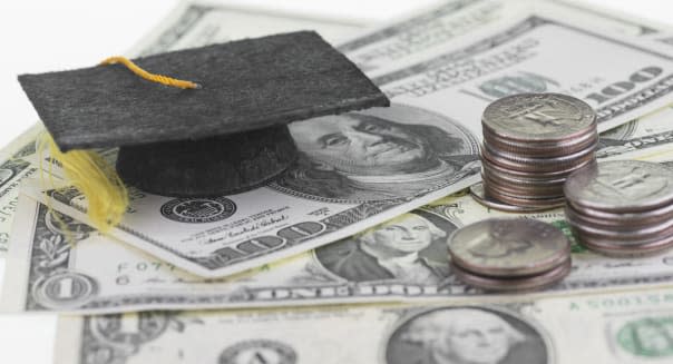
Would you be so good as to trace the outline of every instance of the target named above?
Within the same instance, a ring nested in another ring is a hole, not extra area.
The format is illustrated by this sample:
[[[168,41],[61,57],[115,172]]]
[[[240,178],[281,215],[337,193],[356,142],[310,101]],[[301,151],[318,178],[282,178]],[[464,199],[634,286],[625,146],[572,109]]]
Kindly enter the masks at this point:
[[[299,154],[286,125],[199,141],[119,148],[125,184],[170,197],[243,193],[283,173]]]

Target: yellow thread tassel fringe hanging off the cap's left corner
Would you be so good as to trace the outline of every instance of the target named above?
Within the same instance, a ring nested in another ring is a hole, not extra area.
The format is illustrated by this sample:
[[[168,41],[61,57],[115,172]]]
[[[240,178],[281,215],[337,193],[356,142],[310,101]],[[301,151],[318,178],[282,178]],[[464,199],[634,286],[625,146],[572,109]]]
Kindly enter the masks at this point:
[[[115,167],[92,150],[62,153],[48,132],[45,132],[41,142],[48,146],[50,157],[61,165],[67,184],[87,198],[91,225],[103,234],[119,225],[129,199],[128,190]],[[58,189],[49,175],[51,186]]]

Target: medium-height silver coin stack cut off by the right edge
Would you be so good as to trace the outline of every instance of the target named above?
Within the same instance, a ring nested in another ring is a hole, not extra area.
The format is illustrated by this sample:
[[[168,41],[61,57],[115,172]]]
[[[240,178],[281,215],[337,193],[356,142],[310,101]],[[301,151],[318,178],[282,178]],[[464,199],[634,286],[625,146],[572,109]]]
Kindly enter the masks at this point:
[[[673,246],[673,169],[614,160],[574,173],[565,185],[566,219],[587,248],[640,256]]]

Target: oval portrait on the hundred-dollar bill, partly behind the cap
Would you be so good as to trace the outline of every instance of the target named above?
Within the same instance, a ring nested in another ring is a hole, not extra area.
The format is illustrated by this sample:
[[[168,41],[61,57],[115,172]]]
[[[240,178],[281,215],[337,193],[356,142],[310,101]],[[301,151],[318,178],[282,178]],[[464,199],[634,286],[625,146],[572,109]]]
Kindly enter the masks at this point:
[[[299,161],[272,187],[363,201],[437,190],[478,168],[476,139],[440,115],[392,105],[293,122]]]

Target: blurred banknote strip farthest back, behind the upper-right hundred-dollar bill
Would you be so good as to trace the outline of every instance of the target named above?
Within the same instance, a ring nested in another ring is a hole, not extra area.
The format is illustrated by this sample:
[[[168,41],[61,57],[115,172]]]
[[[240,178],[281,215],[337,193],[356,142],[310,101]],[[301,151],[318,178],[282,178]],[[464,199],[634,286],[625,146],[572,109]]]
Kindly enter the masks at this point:
[[[585,23],[602,30],[633,37],[661,35],[666,27],[634,19],[632,16],[589,9],[565,1],[544,0],[449,0],[428,9],[370,28],[354,38],[339,43],[362,70],[373,72],[389,68],[418,52],[437,51],[452,47],[464,35],[474,33],[489,24],[543,8],[547,12],[563,12],[573,23]]]

